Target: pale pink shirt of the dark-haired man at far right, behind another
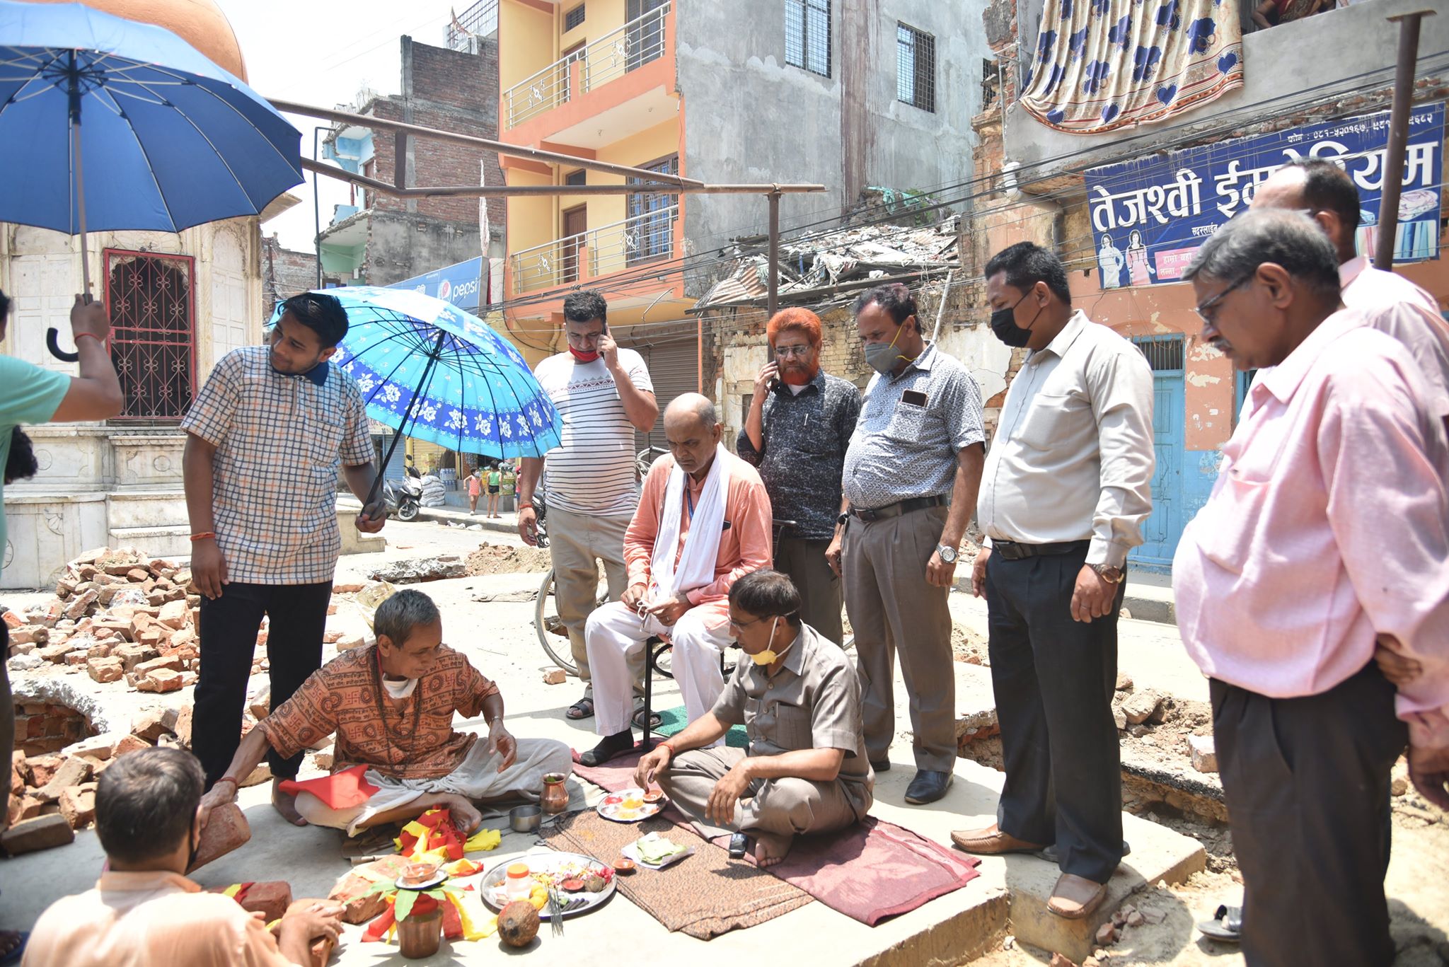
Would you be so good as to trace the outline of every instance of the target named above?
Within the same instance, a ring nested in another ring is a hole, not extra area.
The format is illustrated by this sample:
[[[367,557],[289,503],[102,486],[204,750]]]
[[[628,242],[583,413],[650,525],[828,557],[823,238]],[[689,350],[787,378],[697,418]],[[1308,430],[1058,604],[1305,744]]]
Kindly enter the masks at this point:
[[[1429,383],[1426,407],[1449,418],[1449,323],[1433,296],[1403,275],[1372,268],[1362,255],[1339,265],[1339,284],[1345,306],[1404,344]]]

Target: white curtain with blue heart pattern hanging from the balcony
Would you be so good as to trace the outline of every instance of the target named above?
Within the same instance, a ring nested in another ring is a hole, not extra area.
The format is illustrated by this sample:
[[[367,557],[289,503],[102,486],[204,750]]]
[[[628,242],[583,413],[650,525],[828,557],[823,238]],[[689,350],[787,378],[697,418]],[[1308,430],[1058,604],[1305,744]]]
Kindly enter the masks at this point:
[[[1242,83],[1236,0],[1046,0],[1022,106],[1058,130],[1097,135]]]

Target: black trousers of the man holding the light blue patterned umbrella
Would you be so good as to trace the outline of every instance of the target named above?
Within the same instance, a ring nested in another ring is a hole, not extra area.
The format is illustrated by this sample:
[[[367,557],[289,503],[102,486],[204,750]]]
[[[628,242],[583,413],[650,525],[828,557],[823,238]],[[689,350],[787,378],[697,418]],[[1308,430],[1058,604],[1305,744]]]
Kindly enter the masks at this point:
[[[327,628],[332,581],[320,584],[239,584],[214,602],[201,599],[201,674],[191,713],[191,751],[206,770],[207,789],[226,773],[242,741],[242,712],[252,674],[262,615],[271,618],[267,661],[271,707],[275,710],[322,667],[322,635]],[[268,752],[272,776],[296,779],[301,752],[283,758]]]

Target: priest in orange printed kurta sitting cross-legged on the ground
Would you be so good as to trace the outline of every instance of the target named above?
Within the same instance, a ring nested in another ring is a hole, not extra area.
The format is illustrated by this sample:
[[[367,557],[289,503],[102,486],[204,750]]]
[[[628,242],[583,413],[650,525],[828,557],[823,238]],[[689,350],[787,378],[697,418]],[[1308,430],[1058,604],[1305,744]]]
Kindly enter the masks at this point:
[[[545,773],[568,773],[572,754],[554,739],[514,739],[503,696],[468,658],[442,644],[427,594],[404,590],[378,605],[377,644],[346,651],[246,734],[226,774],[206,794],[207,813],[236,799],[236,783],[267,750],[284,758],[336,735],[333,776],[290,786],[301,823],[359,829],[451,810],[464,832],[483,816],[477,800],[536,799]],[[454,715],[483,715],[484,739],[458,732]]]

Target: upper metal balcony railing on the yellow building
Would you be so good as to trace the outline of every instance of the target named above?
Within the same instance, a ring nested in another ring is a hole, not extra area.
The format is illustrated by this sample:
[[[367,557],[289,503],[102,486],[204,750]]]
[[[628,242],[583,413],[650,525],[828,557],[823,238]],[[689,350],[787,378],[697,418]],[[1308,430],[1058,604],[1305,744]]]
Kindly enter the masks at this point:
[[[510,87],[503,94],[507,126],[522,125],[546,110],[567,104],[571,97],[587,94],[616,77],[659,59],[665,43],[664,19],[669,14],[671,6],[667,3],[655,7]],[[574,90],[575,87],[578,90]]]

